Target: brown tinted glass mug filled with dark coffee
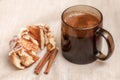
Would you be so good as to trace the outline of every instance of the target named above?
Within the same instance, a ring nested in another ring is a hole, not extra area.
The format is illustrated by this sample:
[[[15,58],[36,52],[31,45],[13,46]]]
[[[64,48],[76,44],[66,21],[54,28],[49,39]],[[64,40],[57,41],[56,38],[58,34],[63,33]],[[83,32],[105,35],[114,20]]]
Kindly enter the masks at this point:
[[[96,20],[95,25],[90,25],[94,22],[84,24],[84,19],[88,18],[97,18],[98,21]],[[102,28],[103,15],[98,9],[88,5],[72,6],[64,10],[61,19],[61,46],[64,58],[76,64],[88,64],[96,59],[106,60],[112,55],[114,40],[112,35]],[[100,51],[102,37],[108,45],[106,55]]]

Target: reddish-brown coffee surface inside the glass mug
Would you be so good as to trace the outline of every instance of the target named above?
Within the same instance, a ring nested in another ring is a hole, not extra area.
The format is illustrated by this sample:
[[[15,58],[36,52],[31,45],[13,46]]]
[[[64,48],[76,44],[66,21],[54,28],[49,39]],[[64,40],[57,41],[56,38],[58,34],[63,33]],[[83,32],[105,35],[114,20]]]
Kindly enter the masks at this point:
[[[65,17],[65,22],[72,27],[89,28],[97,25],[99,19],[88,13],[73,13]]]

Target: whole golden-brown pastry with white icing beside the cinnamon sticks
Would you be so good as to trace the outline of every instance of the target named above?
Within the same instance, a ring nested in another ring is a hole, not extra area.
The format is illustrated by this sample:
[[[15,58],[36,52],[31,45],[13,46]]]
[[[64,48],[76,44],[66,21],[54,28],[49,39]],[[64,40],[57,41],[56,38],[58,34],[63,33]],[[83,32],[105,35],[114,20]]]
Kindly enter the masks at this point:
[[[38,49],[45,46],[48,51],[56,48],[52,32],[46,25],[31,25],[23,28],[9,43],[10,61],[19,69],[25,69],[35,63],[39,57]]]

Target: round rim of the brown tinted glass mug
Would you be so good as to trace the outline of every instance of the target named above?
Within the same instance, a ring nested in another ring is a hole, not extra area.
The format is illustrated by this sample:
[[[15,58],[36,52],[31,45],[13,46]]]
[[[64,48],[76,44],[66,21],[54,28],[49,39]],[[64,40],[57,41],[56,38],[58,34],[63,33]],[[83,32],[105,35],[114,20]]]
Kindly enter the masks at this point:
[[[64,13],[65,13],[68,9],[70,9],[70,8],[72,8],[72,7],[77,7],[77,6],[87,6],[87,7],[91,7],[91,8],[93,8],[93,9],[95,9],[95,10],[98,11],[98,13],[100,14],[100,17],[101,17],[101,18],[100,18],[100,21],[99,21],[95,26],[89,27],[89,28],[76,28],[76,27],[73,27],[73,26],[69,25],[69,24],[66,23],[66,22],[64,21],[64,19],[63,19]],[[102,15],[101,11],[98,10],[97,8],[95,8],[95,7],[92,7],[92,6],[89,6],[89,5],[74,5],[74,6],[70,6],[70,7],[66,8],[66,9],[63,11],[63,13],[62,13],[62,15],[61,15],[61,19],[62,19],[62,22],[63,22],[65,25],[67,25],[67,26],[69,26],[69,27],[71,27],[71,28],[73,28],[73,29],[76,29],[76,30],[88,30],[88,29],[96,28],[98,25],[100,25],[100,24],[102,23],[102,21],[103,21],[103,15]]]

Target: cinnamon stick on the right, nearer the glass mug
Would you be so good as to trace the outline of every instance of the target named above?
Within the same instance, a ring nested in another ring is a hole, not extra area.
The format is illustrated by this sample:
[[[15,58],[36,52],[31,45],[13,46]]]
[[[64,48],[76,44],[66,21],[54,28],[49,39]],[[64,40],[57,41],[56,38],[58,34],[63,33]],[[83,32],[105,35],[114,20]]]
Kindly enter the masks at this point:
[[[49,73],[50,68],[51,68],[51,66],[52,66],[52,64],[53,64],[53,61],[54,61],[57,53],[58,53],[58,49],[55,48],[54,51],[53,51],[53,52],[51,53],[51,55],[50,55],[50,59],[49,59],[49,62],[48,62],[48,65],[47,65],[47,68],[46,68],[44,74],[48,74],[48,73]]]

